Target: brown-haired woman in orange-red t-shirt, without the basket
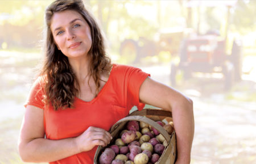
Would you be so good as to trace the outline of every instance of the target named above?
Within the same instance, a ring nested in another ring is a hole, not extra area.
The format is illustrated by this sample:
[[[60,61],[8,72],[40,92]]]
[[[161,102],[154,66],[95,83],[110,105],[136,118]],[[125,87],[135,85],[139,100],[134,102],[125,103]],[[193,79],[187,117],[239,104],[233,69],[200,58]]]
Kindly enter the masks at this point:
[[[96,21],[81,0],[59,0],[46,10],[46,61],[25,104],[19,154],[25,162],[93,163],[97,146],[131,107],[172,111],[176,163],[189,163],[192,101],[140,69],[111,64]]]

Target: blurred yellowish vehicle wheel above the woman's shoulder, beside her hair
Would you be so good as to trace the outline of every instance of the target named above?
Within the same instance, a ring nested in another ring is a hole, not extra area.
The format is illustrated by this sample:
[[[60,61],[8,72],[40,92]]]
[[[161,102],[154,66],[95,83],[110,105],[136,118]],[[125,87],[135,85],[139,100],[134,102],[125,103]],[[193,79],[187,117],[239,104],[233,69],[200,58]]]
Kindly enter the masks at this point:
[[[138,45],[136,41],[132,39],[123,41],[120,46],[120,55],[128,63],[138,62]]]

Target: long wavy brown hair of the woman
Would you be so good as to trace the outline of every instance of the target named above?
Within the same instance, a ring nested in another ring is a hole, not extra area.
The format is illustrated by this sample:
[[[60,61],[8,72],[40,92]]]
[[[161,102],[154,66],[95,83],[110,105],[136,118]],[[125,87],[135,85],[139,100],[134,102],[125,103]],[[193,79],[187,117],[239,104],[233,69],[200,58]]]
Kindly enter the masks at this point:
[[[53,14],[65,10],[79,12],[90,27],[92,36],[92,47],[88,52],[90,58],[90,77],[96,83],[96,95],[100,88],[100,75],[110,73],[112,64],[106,56],[104,37],[92,14],[85,9],[81,0],[57,0],[46,9],[46,37],[44,43],[45,61],[40,76],[44,78],[44,102],[51,104],[54,110],[59,108],[73,108],[73,101],[80,92],[77,77],[66,57],[57,49],[51,32],[51,19]],[[88,82],[89,85],[89,82]]]

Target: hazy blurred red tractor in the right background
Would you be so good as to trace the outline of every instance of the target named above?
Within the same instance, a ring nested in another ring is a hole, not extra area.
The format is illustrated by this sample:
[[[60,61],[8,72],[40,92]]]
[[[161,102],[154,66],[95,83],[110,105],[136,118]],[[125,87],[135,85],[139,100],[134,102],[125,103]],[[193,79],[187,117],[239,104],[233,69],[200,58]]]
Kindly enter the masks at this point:
[[[171,65],[171,83],[176,85],[176,74],[183,72],[183,78],[192,77],[193,72],[222,73],[224,89],[228,90],[234,81],[241,79],[241,44],[234,41],[232,53],[225,53],[225,40],[208,33],[184,39],[180,47],[179,64]]]

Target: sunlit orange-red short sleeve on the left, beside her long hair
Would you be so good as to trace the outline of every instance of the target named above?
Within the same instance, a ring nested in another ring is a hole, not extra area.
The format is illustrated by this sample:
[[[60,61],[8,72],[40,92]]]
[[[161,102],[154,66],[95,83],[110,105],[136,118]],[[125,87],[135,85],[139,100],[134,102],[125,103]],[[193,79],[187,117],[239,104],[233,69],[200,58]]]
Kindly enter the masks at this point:
[[[36,79],[36,81],[33,83],[30,93],[28,95],[28,98],[26,102],[24,103],[24,107],[26,108],[28,105],[44,108],[43,103],[43,87],[42,87],[42,78],[39,77]]]

